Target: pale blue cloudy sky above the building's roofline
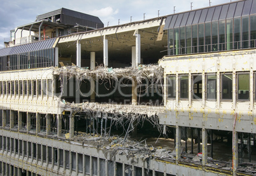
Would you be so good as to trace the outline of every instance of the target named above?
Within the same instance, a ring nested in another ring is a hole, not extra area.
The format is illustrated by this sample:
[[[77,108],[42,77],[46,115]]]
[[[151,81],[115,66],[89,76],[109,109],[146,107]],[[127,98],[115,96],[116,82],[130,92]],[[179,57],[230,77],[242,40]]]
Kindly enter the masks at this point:
[[[211,5],[228,3],[231,0],[211,0]],[[234,0],[232,0],[234,1]],[[104,26],[120,24],[173,14],[192,9],[204,8],[209,6],[209,0],[0,0],[0,48],[3,48],[4,41],[10,40],[10,30],[15,27],[29,24],[36,20],[37,15],[60,8],[80,11],[89,15],[97,16],[101,19]]]

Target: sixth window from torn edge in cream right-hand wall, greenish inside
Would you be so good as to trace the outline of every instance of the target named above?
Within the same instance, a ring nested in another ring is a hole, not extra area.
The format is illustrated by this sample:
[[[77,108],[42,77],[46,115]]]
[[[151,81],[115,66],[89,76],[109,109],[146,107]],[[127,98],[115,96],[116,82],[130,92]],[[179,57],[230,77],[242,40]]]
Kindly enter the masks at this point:
[[[238,100],[250,99],[250,74],[238,74]]]

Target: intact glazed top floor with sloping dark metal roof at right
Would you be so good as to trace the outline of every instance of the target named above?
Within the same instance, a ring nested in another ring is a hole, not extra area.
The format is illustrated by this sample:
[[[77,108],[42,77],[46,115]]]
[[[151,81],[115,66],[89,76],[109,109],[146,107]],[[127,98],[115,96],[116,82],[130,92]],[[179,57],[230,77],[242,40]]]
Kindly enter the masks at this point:
[[[168,55],[255,48],[256,1],[235,1],[170,15]]]

